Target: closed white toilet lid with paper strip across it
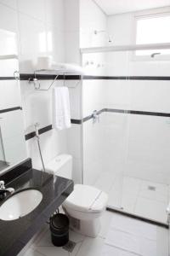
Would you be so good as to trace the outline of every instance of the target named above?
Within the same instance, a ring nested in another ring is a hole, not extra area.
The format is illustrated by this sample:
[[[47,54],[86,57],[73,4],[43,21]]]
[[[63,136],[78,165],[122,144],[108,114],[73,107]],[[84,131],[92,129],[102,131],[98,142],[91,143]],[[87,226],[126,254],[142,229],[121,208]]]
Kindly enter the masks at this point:
[[[101,212],[106,206],[107,199],[105,192],[92,186],[77,184],[63,205],[80,212]]]

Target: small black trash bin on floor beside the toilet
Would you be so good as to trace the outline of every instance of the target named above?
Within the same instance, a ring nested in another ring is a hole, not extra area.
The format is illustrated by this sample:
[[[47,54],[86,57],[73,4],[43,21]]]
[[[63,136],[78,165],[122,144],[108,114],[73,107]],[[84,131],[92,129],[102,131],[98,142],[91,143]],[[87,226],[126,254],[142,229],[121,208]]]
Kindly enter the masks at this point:
[[[69,218],[62,213],[50,218],[51,240],[55,247],[63,247],[69,241]]]

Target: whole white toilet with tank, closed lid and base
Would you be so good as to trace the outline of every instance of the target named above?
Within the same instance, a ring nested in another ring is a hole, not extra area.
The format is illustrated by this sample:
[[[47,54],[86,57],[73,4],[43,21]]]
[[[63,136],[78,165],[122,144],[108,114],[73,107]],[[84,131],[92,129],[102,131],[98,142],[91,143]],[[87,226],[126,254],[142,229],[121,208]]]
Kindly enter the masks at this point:
[[[60,154],[46,166],[46,171],[71,178],[72,157]],[[85,236],[99,234],[99,218],[105,211],[108,195],[92,186],[77,184],[63,203],[63,209],[70,218],[71,229]]]

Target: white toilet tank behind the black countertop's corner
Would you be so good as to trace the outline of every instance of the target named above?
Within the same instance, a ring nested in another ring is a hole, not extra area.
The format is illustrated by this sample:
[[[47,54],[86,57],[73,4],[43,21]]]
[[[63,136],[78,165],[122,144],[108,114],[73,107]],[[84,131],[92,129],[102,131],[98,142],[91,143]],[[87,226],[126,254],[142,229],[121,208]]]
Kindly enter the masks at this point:
[[[59,154],[45,166],[46,172],[66,178],[72,178],[72,156]]]

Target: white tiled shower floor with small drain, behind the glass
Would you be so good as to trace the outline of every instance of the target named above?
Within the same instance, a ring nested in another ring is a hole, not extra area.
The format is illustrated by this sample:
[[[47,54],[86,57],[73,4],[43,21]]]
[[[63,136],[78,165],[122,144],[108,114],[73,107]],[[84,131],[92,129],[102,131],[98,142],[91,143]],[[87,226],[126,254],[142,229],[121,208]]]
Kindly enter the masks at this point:
[[[108,207],[167,224],[169,185],[103,172],[94,186],[109,195]]]

